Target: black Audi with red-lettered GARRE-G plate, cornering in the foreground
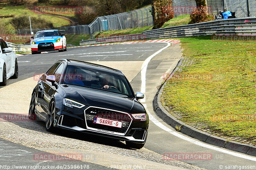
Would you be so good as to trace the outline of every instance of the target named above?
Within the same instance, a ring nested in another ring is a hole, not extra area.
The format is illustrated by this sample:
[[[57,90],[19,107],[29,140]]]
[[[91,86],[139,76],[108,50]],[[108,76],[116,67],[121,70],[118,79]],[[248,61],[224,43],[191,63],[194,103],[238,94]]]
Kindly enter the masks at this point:
[[[125,141],[140,149],[149,118],[122,71],[61,59],[43,74],[32,92],[29,118],[45,121],[47,131],[66,129]],[[86,134],[85,134],[86,135]]]

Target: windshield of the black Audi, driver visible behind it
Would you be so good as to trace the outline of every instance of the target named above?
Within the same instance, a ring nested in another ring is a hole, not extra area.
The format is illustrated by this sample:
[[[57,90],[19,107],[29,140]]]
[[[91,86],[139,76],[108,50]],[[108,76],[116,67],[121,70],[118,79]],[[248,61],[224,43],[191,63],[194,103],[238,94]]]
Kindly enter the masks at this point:
[[[84,67],[68,65],[62,84],[84,86],[134,97],[124,76]]]

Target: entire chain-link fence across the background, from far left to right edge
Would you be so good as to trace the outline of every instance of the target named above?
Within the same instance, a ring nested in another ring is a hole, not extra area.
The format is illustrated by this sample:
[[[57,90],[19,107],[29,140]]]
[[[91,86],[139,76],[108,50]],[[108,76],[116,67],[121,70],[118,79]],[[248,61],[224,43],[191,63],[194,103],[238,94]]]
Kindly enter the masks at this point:
[[[212,15],[218,15],[219,11],[227,8],[229,11],[236,12],[237,18],[256,16],[256,0],[207,0],[208,11]],[[196,8],[195,0],[172,0],[174,17],[190,14]],[[248,10],[249,9],[249,10]],[[33,29],[36,33],[40,30],[59,29],[66,30],[66,34],[91,34],[91,38],[101,31],[122,30],[127,28],[152,26],[153,17],[151,7],[106,15],[95,18],[89,25],[62,26],[56,28]],[[30,34],[30,29],[16,30],[17,34]]]

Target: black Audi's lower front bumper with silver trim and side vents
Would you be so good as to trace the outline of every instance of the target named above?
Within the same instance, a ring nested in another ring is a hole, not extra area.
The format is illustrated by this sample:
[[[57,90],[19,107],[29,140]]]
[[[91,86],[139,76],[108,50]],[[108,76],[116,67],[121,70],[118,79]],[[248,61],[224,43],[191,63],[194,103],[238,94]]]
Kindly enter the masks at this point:
[[[132,141],[134,143],[145,143],[146,141],[148,134],[148,119],[147,121],[131,121],[129,127],[125,130],[124,133],[118,133],[116,131],[102,129],[102,126],[99,126],[101,128],[98,129],[95,127],[89,127],[86,121],[85,110],[83,115],[81,114],[81,111],[80,113],[77,112],[79,109],[75,109],[74,113],[76,114],[68,113],[71,110],[73,109],[65,107],[64,111],[58,112],[59,117],[56,127],[71,131],[79,131],[98,136],[109,137],[121,141]]]

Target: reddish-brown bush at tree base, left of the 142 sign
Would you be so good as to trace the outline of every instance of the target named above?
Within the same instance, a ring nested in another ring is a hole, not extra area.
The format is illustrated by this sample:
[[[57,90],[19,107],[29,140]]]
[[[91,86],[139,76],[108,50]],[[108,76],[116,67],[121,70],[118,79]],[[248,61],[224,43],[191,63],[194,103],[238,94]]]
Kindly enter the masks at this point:
[[[213,15],[207,13],[207,7],[201,5],[199,8],[195,8],[190,14],[191,21],[188,24],[195,24],[206,21],[213,21]]]

